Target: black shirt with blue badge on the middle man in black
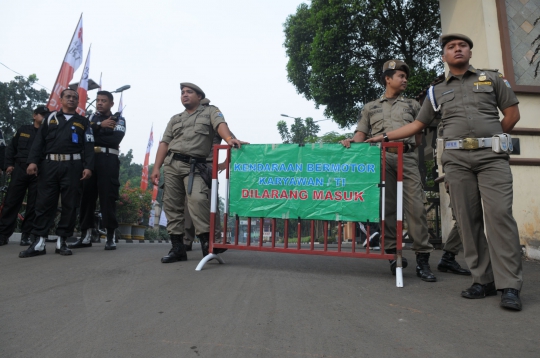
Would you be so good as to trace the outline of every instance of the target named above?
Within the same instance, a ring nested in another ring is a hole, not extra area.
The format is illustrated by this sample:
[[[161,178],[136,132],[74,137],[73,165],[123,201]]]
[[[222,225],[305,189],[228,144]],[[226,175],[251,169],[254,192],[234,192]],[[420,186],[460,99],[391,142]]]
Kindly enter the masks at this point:
[[[76,153],[82,155],[84,169],[94,170],[94,136],[90,122],[78,114],[66,120],[62,111],[53,112],[43,120],[27,163],[38,164],[46,154]]]

